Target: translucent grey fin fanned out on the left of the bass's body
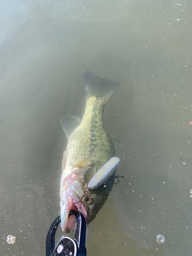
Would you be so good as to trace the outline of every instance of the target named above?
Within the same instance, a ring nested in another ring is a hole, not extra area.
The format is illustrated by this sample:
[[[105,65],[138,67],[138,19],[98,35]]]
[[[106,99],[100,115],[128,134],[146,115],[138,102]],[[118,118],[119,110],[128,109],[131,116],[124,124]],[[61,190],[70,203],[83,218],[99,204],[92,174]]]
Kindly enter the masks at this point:
[[[63,116],[60,119],[61,126],[65,132],[67,138],[75,131],[75,129],[80,125],[81,119],[77,116]]]

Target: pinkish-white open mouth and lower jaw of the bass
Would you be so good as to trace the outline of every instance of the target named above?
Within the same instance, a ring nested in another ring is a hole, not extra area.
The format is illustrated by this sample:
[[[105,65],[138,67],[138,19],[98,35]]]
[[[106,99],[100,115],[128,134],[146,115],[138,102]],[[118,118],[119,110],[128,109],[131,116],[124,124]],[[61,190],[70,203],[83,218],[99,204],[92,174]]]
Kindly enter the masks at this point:
[[[76,218],[74,215],[69,217],[70,210],[74,209],[79,211],[86,219],[87,225],[89,224],[89,218],[84,205],[80,202],[80,198],[77,193],[72,191],[65,191],[60,201],[60,217],[61,217],[61,229],[65,233],[69,233],[70,230],[75,231]]]

